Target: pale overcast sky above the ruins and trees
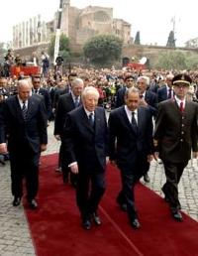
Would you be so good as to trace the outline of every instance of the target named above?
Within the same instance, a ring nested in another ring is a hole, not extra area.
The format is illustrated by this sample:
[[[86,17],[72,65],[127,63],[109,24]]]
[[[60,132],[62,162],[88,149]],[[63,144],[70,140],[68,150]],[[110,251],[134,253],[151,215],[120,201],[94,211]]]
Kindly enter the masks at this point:
[[[140,31],[141,44],[165,46],[173,28],[177,47],[198,37],[195,0],[185,4],[180,0],[70,0],[70,6],[77,8],[88,5],[113,7],[114,18],[132,24],[132,37]],[[12,41],[13,26],[39,14],[46,22],[52,20],[58,7],[59,0],[1,0],[0,42]]]

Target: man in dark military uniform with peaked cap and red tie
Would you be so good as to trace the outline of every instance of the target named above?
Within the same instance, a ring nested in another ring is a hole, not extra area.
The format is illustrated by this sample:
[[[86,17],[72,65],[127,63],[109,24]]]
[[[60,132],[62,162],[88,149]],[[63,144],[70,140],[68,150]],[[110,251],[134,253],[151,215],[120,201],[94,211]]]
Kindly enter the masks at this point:
[[[192,157],[197,158],[198,105],[186,100],[192,82],[187,74],[173,77],[175,96],[159,103],[154,129],[154,157],[164,165],[166,182],[162,187],[172,217],[182,221],[178,184],[183,170]]]

